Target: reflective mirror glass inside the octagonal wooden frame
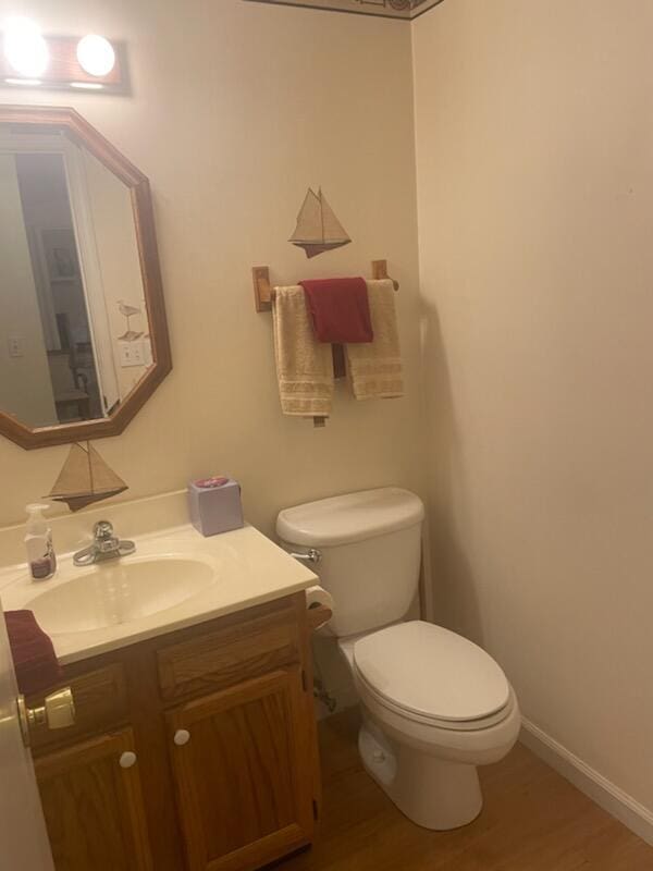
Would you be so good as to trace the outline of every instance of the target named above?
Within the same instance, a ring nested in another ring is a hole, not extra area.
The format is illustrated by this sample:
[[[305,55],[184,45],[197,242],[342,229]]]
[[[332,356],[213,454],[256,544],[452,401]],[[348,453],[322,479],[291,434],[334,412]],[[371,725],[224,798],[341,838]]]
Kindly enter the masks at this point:
[[[65,131],[0,125],[0,410],[101,419],[151,366],[131,192]]]

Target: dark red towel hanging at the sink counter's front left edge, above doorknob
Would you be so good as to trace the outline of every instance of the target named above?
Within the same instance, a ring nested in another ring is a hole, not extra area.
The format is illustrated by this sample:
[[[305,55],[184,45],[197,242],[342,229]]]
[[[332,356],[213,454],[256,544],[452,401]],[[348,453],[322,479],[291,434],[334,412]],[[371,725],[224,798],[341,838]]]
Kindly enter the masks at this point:
[[[60,679],[61,667],[52,641],[32,611],[7,611],[4,619],[21,692],[29,696],[51,687]]]

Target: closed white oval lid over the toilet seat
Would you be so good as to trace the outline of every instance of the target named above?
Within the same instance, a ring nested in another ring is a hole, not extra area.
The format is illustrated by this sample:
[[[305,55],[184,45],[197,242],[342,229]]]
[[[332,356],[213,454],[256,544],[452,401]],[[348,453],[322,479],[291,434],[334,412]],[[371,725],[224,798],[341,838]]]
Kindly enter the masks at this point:
[[[362,678],[394,706],[427,717],[482,720],[506,707],[510,687],[496,662],[442,626],[412,621],[356,642]]]

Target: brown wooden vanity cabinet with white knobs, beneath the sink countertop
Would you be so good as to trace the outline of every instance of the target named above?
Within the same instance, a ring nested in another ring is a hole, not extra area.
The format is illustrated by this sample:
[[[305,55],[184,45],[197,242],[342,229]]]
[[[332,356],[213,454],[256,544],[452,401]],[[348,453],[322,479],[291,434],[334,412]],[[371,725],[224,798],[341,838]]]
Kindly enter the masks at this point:
[[[75,663],[61,684],[75,725],[32,736],[57,871],[250,871],[311,843],[304,593]]]

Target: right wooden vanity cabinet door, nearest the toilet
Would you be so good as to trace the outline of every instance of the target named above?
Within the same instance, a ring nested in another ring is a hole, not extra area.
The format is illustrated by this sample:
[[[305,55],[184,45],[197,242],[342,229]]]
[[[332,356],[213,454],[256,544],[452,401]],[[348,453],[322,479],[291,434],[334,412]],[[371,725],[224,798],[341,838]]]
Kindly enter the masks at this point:
[[[311,724],[298,665],[168,714],[189,871],[245,871],[310,842]]]

